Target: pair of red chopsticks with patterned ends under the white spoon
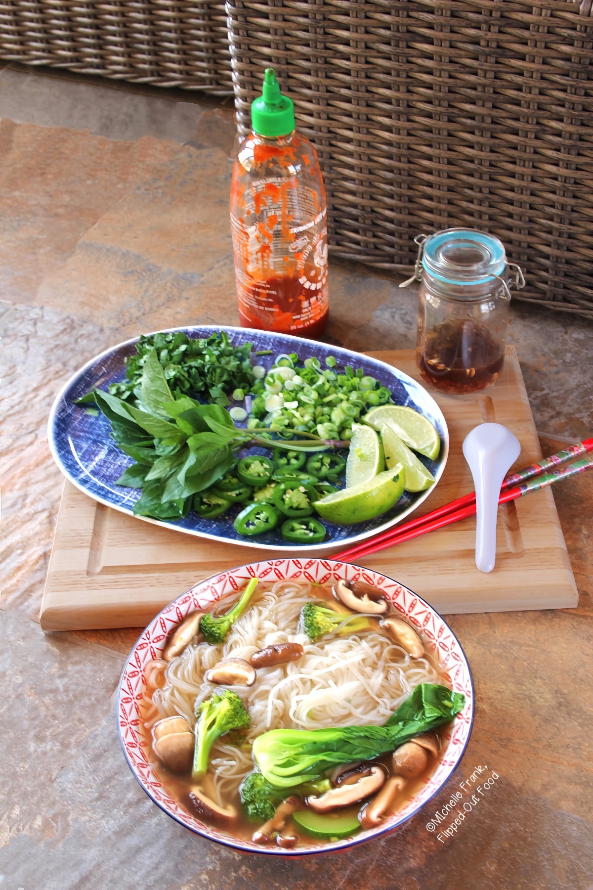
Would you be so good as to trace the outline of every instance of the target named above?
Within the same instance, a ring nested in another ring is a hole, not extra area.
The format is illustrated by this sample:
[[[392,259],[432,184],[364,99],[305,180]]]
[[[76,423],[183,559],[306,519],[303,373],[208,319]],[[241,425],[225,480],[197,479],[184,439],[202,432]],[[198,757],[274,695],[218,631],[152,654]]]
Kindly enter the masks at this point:
[[[518,470],[516,473],[509,473],[501,485],[499,504],[504,504],[506,501],[514,500],[515,498],[521,498],[528,491],[545,488],[553,482],[572,476],[573,473],[581,473],[581,471],[588,469],[593,465],[593,456],[575,461],[574,464],[565,467],[563,470],[554,469],[551,473],[544,473],[550,467],[557,467],[577,455],[587,454],[590,451],[593,451],[593,439],[586,439],[579,442],[578,445],[571,445],[568,449],[559,451],[558,454],[552,455],[552,457],[547,457],[541,461],[541,464],[534,464],[525,467],[524,470]],[[515,485],[514,483],[517,481],[519,484]],[[396,529],[383,531],[381,535],[377,535],[375,538],[370,538],[361,544],[342,550],[341,553],[334,554],[333,558],[339,559],[342,562],[352,562],[355,559],[383,550],[385,547],[401,544],[403,541],[417,538],[429,531],[440,529],[453,522],[459,522],[461,519],[467,519],[468,516],[473,516],[475,513],[476,492],[472,491],[462,498],[457,498],[449,504],[438,507],[432,513],[419,516],[417,519],[405,522]]]

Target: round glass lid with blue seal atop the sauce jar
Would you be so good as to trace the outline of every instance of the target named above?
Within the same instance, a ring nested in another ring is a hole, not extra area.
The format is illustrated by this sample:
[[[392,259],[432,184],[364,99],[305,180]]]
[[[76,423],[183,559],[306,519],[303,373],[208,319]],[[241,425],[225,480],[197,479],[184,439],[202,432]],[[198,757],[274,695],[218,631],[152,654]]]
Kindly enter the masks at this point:
[[[483,231],[437,231],[422,247],[423,267],[447,284],[485,284],[501,275],[507,265],[502,242]]]

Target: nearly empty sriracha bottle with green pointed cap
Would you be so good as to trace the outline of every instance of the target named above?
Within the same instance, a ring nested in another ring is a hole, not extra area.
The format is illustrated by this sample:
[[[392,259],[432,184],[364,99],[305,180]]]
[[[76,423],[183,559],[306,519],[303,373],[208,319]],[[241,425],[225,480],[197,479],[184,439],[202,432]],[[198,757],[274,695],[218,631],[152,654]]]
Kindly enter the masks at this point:
[[[327,206],[316,150],[266,69],[233,166],[230,220],[244,328],[318,336],[327,322]]]

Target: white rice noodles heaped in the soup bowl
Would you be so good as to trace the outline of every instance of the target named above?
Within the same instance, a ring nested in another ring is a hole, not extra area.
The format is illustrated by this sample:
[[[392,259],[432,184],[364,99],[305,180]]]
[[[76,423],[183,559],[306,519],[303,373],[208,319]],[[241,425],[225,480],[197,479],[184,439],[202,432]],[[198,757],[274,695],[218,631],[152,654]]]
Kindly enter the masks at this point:
[[[189,645],[169,662],[166,685],[147,701],[146,725],[180,714],[193,727],[196,707],[215,688],[204,681],[205,671],[230,655],[249,659],[274,643],[301,643],[304,656],[297,662],[258,668],[249,688],[229,687],[244,700],[252,718],[248,742],[281,726],[319,729],[383,724],[418,684],[440,682],[437,668],[428,659],[410,659],[379,630],[311,643],[299,632],[299,619],[303,605],[318,598],[318,588],[308,582],[262,584],[223,646]],[[220,604],[223,610],[227,606]],[[210,769],[220,804],[236,793],[238,783],[252,768],[250,745],[237,748],[226,744],[223,736],[212,748]]]

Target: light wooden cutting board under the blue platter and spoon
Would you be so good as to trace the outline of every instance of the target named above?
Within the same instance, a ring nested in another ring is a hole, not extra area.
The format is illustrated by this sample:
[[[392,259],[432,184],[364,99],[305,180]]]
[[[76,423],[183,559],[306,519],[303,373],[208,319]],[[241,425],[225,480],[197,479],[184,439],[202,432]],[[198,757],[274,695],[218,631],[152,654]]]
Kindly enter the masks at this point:
[[[413,351],[372,354],[420,380]],[[433,395],[449,426],[451,450],[443,478],[419,515],[473,490],[461,443],[477,424],[496,422],[515,433],[521,442],[515,468],[541,459],[514,347],[507,347],[504,371],[485,392]],[[496,566],[490,574],[476,568],[475,535],[476,519],[471,517],[360,562],[397,579],[444,614],[576,606],[577,589],[551,490],[501,506]],[[98,504],[67,481],[41,626],[44,630],[144,627],[197,580],[275,555],[280,554],[202,540],[142,522]]]

